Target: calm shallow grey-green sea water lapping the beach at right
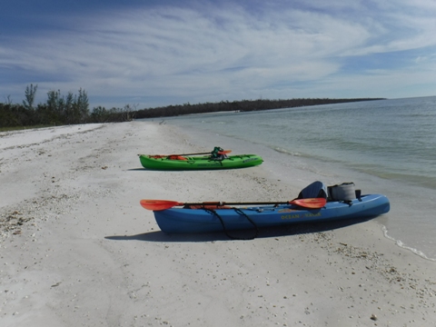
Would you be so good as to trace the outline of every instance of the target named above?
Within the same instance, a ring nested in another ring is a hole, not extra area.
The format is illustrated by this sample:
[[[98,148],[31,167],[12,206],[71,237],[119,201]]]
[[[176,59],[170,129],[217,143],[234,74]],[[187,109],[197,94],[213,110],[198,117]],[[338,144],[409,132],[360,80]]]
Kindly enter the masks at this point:
[[[239,154],[263,155],[299,185],[313,176],[383,193],[391,211],[375,220],[385,235],[436,260],[436,96],[156,120],[182,127],[211,151],[237,154],[234,147],[243,146]]]

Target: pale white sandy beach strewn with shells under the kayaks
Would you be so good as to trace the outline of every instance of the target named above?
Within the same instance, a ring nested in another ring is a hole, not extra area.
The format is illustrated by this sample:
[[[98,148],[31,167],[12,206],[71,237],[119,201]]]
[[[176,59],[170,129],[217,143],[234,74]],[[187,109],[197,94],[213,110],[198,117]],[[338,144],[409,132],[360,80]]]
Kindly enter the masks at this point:
[[[0,133],[0,325],[436,326],[436,263],[380,223],[168,235],[141,199],[287,201],[272,163],[144,170],[137,154],[209,152],[156,122]],[[241,154],[243,149],[232,149]],[[249,232],[247,232],[249,233]]]

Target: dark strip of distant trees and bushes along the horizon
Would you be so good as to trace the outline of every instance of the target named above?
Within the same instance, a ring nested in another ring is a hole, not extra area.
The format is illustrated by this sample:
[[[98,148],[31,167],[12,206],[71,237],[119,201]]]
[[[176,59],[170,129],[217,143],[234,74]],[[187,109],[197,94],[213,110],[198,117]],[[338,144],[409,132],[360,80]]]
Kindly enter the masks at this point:
[[[181,114],[203,114],[225,111],[256,111],[290,108],[315,104],[339,104],[357,101],[381,100],[381,98],[358,99],[291,99],[291,100],[242,100],[220,103],[180,104],[137,110],[135,105],[106,109],[96,106],[89,110],[88,95],[83,89],[78,94],[66,96],[58,91],[49,91],[45,104],[35,105],[38,85],[30,84],[25,89],[22,104],[12,104],[9,97],[0,103],[0,128],[23,128],[38,125],[64,125],[86,123],[125,122],[139,118],[168,117]]]

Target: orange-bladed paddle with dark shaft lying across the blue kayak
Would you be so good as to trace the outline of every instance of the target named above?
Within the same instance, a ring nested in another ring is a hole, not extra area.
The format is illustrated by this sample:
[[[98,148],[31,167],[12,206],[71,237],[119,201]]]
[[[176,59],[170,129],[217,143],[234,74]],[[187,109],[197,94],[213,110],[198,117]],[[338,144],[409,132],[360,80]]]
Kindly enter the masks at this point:
[[[173,208],[173,206],[183,206],[183,205],[238,205],[238,204],[296,204],[303,208],[310,209],[320,209],[325,203],[326,199],[323,198],[311,198],[311,199],[295,199],[287,202],[274,202],[274,203],[223,203],[223,202],[203,202],[203,203],[179,203],[171,200],[141,200],[141,205],[144,209],[160,211]]]

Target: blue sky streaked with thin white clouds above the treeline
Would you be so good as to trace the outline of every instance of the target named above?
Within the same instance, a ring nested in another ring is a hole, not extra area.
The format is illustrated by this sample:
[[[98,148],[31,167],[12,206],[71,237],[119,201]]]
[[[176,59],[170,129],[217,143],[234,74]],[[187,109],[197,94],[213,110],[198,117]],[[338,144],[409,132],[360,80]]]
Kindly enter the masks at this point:
[[[436,95],[435,0],[1,0],[0,103]]]

